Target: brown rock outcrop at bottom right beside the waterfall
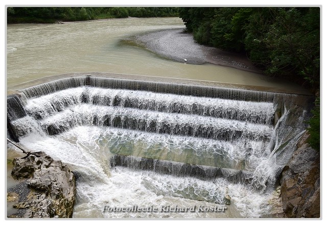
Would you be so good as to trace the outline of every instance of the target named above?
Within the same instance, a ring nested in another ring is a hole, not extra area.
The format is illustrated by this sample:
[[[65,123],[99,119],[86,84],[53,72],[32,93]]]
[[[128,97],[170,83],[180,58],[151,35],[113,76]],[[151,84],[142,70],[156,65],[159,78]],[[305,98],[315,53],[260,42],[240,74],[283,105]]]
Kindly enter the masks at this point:
[[[282,172],[281,197],[287,217],[320,217],[320,158],[306,142],[308,137],[308,133],[302,136]]]

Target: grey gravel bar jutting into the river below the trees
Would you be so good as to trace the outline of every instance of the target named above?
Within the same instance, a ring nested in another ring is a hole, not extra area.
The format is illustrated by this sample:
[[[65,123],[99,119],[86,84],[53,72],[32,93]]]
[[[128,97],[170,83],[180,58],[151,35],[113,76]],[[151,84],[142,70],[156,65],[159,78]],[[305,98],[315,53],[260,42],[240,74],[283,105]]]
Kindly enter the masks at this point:
[[[157,31],[135,37],[135,41],[159,56],[191,64],[213,63],[261,73],[246,56],[195,43],[183,29]]]

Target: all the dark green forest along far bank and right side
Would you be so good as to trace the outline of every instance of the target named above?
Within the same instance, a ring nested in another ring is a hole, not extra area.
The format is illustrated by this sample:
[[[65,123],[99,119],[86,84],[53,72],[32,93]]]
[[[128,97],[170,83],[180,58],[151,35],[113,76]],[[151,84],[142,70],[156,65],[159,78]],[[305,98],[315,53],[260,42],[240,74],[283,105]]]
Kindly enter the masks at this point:
[[[319,148],[319,7],[8,7],[7,23],[53,23],[124,17],[180,17],[199,44],[245,54],[267,76],[316,94],[309,121]]]

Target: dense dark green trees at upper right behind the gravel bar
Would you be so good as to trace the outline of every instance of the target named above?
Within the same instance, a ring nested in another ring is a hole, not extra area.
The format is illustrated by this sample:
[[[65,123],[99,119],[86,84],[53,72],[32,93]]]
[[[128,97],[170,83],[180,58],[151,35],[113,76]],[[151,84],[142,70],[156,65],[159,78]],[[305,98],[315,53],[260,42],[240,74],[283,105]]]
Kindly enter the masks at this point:
[[[200,44],[246,53],[267,74],[320,84],[320,8],[181,8]]]

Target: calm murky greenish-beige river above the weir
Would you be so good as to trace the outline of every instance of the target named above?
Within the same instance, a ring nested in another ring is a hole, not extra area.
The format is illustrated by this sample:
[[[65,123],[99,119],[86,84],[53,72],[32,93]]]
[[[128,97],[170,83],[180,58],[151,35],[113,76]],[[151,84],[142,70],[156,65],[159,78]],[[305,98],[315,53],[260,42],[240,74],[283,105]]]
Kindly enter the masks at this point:
[[[123,41],[148,32],[184,28],[180,18],[8,24],[7,88],[68,72],[112,72],[301,89],[241,69],[211,63],[180,63]]]

